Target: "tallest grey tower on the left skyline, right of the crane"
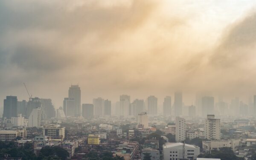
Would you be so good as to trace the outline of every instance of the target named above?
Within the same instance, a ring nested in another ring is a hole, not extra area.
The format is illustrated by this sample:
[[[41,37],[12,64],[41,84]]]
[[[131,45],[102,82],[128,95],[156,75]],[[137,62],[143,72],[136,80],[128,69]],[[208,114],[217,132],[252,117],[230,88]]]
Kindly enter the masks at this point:
[[[74,113],[75,116],[81,115],[81,90],[79,85],[71,85],[68,90],[68,98],[74,99]]]

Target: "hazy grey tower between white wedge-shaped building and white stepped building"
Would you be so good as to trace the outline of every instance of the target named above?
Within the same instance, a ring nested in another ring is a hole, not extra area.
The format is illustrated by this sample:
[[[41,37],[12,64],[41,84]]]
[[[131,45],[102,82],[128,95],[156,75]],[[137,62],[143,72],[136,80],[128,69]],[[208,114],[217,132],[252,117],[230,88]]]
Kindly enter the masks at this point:
[[[55,108],[52,105],[52,99],[40,99],[41,102],[41,119],[50,119],[55,117]]]

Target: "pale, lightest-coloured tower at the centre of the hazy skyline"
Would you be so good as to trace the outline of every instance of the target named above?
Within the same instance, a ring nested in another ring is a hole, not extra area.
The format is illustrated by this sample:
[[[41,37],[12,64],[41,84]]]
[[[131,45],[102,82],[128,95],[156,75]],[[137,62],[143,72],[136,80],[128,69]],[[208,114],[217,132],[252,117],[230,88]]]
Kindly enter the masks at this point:
[[[129,116],[130,113],[130,96],[122,95],[120,96],[120,116]]]

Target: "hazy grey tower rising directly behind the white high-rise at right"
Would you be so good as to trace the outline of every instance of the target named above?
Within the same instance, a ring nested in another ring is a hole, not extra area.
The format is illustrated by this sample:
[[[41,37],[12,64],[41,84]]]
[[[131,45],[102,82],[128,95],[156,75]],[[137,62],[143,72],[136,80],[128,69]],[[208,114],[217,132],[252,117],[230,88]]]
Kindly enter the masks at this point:
[[[202,98],[202,116],[207,116],[208,114],[214,114],[214,97],[204,96]]]

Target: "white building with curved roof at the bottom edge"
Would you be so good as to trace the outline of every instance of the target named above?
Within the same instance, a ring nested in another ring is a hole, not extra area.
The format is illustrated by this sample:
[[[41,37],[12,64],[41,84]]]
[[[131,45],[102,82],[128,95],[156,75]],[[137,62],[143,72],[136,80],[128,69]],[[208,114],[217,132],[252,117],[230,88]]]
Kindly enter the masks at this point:
[[[184,158],[195,160],[200,154],[196,145],[185,144]],[[163,145],[163,160],[181,160],[183,158],[183,143],[166,143]]]

